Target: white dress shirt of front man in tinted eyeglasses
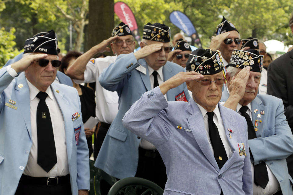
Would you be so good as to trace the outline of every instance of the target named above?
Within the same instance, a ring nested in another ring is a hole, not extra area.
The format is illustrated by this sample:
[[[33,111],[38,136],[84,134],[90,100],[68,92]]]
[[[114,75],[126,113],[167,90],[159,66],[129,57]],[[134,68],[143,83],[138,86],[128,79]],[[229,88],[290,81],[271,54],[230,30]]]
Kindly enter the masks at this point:
[[[195,103],[197,104],[197,102],[195,102]],[[212,153],[214,154],[214,149],[212,147],[212,143],[211,143],[211,139],[210,139],[210,135],[209,135],[209,129],[208,129],[208,114],[207,114],[208,111],[206,109],[204,109],[199,104],[197,104],[197,106],[198,106],[198,108],[201,111],[202,117],[204,118],[205,133],[207,135],[208,143],[210,145],[210,148],[212,150]],[[226,136],[226,133],[225,133],[225,129],[224,129],[224,125],[223,125],[223,121],[222,121],[222,117],[221,117],[221,114],[220,114],[220,110],[219,110],[218,105],[216,105],[216,107],[213,110],[213,112],[215,113],[214,114],[214,117],[213,117],[213,122],[215,123],[215,125],[218,128],[220,138],[222,140],[222,143],[224,145],[224,148],[225,148],[227,157],[229,159],[231,157],[232,151],[231,151],[231,147],[229,145],[229,142],[228,142],[228,139],[227,139],[227,136]]]

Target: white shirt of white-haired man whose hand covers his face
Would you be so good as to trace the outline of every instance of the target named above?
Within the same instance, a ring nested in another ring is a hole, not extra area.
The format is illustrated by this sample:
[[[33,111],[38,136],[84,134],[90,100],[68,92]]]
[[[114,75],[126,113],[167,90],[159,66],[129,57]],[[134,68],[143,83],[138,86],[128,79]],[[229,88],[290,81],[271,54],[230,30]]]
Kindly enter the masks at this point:
[[[250,117],[250,119],[252,121],[251,104],[249,103],[246,106],[248,107],[246,113],[249,115],[249,117]],[[241,107],[242,107],[242,105],[238,103],[236,110],[240,115],[241,115],[241,112],[239,110],[240,110]],[[274,193],[276,193],[277,191],[280,190],[280,184],[279,184],[277,178],[272,173],[272,171],[269,169],[268,165],[266,165],[266,169],[268,171],[269,182],[266,185],[266,188],[262,189],[261,186],[256,186],[255,183],[254,183],[254,167],[253,167],[253,163],[251,163],[251,176],[252,176],[252,185],[253,185],[253,195],[261,195],[261,194],[271,195],[271,194],[274,194]]]

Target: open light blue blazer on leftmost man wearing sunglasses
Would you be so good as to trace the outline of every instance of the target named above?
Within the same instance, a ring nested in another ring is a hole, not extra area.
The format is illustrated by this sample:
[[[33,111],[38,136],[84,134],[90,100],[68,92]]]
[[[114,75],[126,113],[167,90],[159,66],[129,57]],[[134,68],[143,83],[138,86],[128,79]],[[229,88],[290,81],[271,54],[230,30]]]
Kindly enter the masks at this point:
[[[19,84],[23,87],[19,88]],[[78,195],[78,190],[89,189],[89,151],[82,118],[71,119],[75,112],[81,114],[80,101],[73,87],[59,83],[52,83],[51,87],[64,119],[71,191]],[[0,69],[0,93],[0,195],[6,195],[15,193],[32,146],[30,95],[24,73],[13,78],[6,67]],[[74,128],[79,126],[81,131],[76,145]]]

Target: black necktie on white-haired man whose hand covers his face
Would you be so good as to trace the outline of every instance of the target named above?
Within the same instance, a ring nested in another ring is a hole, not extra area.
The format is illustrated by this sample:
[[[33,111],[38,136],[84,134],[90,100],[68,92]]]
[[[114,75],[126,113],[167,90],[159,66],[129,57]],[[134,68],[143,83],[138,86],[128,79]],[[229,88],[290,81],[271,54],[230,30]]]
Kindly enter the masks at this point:
[[[248,127],[248,139],[256,138],[256,133],[253,128],[253,124],[251,122],[250,116],[246,113],[248,107],[242,106],[240,108],[241,115],[244,116],[247,122]],[[268,170],[266,169],[266,163],[262,162],[258,165],[254,165],[254,183],[257,186],[261,186],[263,189],[266,188],[267,183],[269,182]]]

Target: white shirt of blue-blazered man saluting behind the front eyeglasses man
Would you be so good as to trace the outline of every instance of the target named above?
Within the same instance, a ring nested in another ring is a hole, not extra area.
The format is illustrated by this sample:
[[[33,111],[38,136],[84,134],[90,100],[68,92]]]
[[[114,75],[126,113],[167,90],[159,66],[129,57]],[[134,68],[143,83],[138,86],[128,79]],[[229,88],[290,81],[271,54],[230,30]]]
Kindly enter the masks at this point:
[[[147,66],[148,70],[149,70],[149,76],[150,76],[150,86],[152,87],[152,89],[154,89],[154,69],[152,69],[150,66]],[[158,75],[158,83],[159,85],[162,84],[164,82],[164,78],[163,78],[163,66],[161,66],[159,69],[156,70]],[[164,95],[165,99],[167,100],[167,95]],[[168,101],[168,100],[167,100]],[[150,142],[148,142],[147,140],[143,140],[141,139],[139,142],[139,147],[146,149],[146,150],[156,150],[156,147],[151,144]]]

